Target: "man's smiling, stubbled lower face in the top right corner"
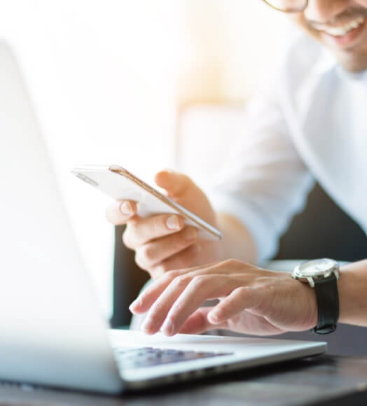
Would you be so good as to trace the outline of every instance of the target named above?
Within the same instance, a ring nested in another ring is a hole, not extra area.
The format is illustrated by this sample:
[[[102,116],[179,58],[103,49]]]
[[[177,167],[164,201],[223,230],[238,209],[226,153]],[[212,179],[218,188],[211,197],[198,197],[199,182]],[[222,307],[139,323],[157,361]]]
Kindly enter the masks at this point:
[[[367,0],[309,0],[302,13],[290,16],[345,69],[367,69]]]

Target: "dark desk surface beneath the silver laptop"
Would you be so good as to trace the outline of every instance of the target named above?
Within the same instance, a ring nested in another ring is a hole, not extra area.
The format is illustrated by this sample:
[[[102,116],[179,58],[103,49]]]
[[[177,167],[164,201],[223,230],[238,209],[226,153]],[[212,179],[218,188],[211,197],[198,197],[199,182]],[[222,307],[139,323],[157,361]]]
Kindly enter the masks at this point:
[[[367,405],[367,357],[305,358],[119,398],[4,384],[0,405]]]

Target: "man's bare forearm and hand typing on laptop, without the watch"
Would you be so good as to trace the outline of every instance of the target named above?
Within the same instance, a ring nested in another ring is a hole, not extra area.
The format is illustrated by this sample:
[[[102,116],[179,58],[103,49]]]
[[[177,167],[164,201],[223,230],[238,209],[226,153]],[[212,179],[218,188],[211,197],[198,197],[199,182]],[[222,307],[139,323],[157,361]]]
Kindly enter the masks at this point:
[[[367,326],[367,260],[342,267],[338,282],[340,323]],[[219,298],[214,307],[200,308]],[[198,334],[224,328],[245,334],[274,335],[317,325],[314,288],[286,272],[272,272],[226,260],[168,272],[144,290],[130,309],[147,313],[142,329]]]

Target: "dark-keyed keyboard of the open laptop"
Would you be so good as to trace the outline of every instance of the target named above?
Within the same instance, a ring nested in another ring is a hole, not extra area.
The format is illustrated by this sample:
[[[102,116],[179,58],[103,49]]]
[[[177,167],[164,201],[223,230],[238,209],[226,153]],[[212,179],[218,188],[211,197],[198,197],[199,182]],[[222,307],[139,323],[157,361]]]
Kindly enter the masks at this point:
[[[231,355],[231,353],[179,351],[176,349],[138,348],[138,349],[113,349],[119,367],[123,369],[136,369],[153,367],[183,361],[213,358]]]

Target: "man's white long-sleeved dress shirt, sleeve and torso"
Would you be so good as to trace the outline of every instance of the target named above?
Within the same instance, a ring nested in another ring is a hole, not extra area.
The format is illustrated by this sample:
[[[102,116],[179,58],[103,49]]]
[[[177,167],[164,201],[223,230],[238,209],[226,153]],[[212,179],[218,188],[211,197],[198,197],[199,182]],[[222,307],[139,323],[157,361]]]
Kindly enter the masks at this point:
[[[347,73],[304,34],[271,68],[275,80],[249,104],[211,196],[250,230],[260,262],[275,254],[315,179],[367,232],[367,71]]]

